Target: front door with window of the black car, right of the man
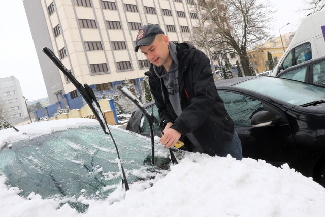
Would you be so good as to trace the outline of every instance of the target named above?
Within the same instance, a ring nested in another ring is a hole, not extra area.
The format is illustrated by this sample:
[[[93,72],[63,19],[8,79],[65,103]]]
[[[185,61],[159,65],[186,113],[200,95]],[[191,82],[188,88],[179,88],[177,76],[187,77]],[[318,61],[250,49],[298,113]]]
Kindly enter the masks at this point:
[[[297,151],[284,113],[275,106],[239,92],[218,90],[224,106],[234,120],[243,147],[243,157],[262,159],[275,166],[288,163],[298,167]],[[276,125],[252,127],[251,118],[266,110],[278,117]]]

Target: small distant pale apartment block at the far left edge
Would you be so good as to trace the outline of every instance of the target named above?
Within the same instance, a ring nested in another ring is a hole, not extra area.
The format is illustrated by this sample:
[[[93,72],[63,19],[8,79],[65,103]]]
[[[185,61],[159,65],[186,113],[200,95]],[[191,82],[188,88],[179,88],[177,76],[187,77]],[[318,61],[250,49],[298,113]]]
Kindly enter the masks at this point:
[[[9,122],[28,115],[20,83],[14,76],[0,78],[0,109],[0,115]]]

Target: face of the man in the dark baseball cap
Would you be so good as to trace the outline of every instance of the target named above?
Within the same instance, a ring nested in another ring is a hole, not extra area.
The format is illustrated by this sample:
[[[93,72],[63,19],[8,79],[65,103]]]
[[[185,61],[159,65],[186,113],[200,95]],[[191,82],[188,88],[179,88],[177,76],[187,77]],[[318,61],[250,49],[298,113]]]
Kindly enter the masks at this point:
[[[146,58],[158,67],[169,62],[168,38],[163,34],[156,35],[151,45],[139,48]]]

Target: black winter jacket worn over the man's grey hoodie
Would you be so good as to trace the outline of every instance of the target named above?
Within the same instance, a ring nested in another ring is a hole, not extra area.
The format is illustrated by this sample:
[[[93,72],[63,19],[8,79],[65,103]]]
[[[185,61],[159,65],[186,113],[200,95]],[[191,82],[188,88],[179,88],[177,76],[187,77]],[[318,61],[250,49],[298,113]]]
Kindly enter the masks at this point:
[[[149,77],[161,125],[165,127],[166,123],[172,122],[171,128],[183,136],[193,133],[204,153],[218,155],[220,148],[231,140],[234,123],[217,93],[210,61],[202,51],[187,43],[177,44],[177,59],[182,107],[179,117],[169,101],[163,80],[155,74],[152,64],[150,70],[145,73]],[[185,136],[182,140],[186,150],[193,150],[193,145]]]

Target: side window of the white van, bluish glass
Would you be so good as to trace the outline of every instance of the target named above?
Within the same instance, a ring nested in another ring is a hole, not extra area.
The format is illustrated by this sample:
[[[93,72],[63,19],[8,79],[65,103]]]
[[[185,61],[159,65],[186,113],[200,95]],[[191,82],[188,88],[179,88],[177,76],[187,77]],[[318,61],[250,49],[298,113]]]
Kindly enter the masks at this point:
[[[283,69],[304,63],[312,58],[311,45],[309,42],[299,45],[292,49],[283,61]]]

